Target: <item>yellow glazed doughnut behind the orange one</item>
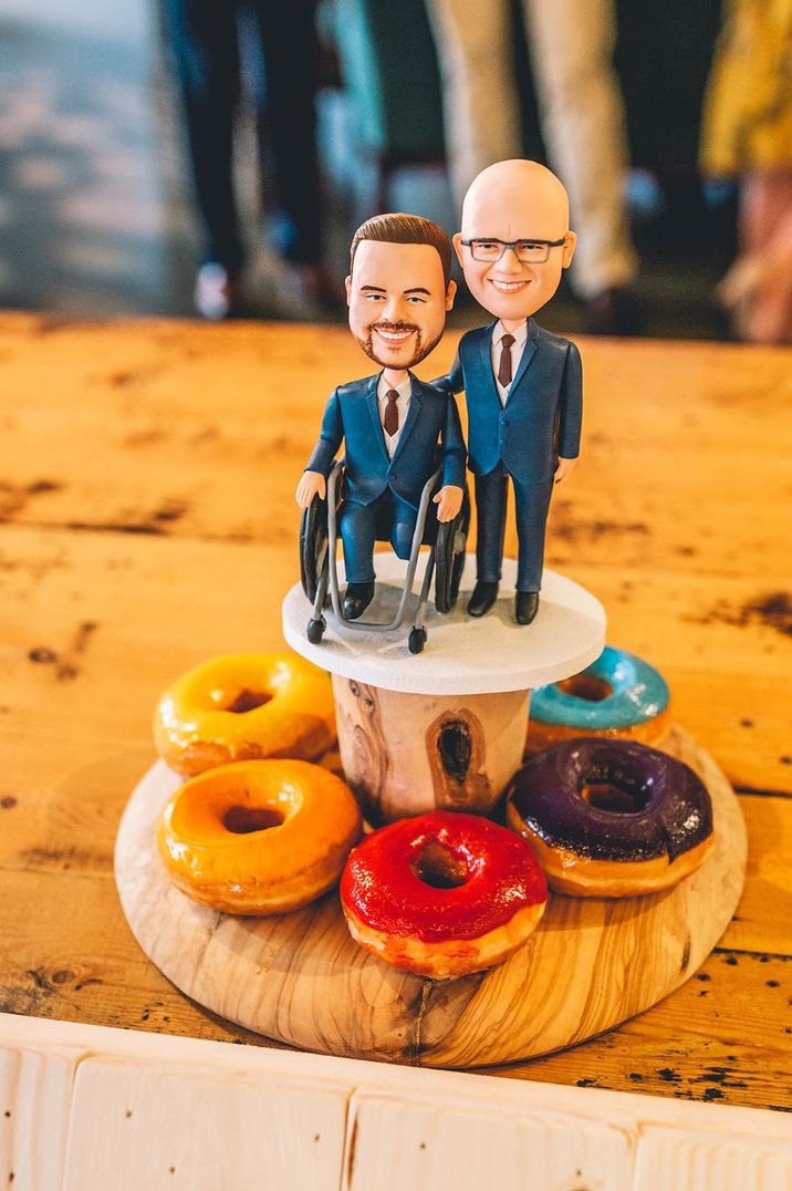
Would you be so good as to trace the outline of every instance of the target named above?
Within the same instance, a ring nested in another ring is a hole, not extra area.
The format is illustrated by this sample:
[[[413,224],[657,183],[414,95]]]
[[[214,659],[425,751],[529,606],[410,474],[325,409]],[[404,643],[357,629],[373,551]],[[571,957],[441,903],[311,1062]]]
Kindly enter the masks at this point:
[[[312,761],[336,738],[330,678],[297,654],[223,654],[161,696],[154,742],[172,769],[193,777],[254,757]]]

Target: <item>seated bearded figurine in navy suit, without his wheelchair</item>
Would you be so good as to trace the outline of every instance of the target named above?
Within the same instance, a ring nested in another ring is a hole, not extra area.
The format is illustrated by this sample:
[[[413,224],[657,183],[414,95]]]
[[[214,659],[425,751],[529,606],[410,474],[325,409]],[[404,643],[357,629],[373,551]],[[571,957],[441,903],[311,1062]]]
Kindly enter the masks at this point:
[[[434,497],[439,522],[462,506],[466,450],[456,403],[410,369],[439,342],[454,305],[451,243],[426,219],[383,214],[358,227],[347,278],[349,326],[381,372],[341,385],[297,487],[307,509],[324,499],[344,442],[347,495],[341,517],[347,591],[343,615],[357,619],[374,597],[374,542],[383,523],[399,559],[409,559],[424,485],[442,464]]]

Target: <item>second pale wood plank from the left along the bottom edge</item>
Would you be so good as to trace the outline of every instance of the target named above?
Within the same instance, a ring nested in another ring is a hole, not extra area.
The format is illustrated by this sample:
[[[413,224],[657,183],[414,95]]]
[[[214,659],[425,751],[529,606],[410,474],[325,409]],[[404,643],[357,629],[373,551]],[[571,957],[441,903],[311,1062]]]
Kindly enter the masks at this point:
[[[87,1059],[63,1191],[337,1191],[345,1117],[343,1087]]]

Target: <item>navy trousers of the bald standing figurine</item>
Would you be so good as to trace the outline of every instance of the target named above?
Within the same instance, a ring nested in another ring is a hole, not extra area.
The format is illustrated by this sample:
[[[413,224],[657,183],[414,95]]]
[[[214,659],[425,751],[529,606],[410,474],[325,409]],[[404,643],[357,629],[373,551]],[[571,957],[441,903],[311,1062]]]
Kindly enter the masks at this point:
[[[553,480],[522,484],[503,463],[487,475],[475,478],[478,538],[475,548],[476,579],[486,584],[500,581],[506,532],[507,482],[515,485],[517,513],[517,591],[537,592],[542,586],[544,531],[553,495]]]

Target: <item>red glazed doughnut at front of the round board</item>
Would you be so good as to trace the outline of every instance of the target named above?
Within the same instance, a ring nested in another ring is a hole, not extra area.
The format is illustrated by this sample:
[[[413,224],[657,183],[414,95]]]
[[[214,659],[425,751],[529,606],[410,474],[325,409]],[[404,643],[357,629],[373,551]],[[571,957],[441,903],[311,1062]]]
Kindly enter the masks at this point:
[[[341,904],[361,947],[445,980],[501,964],[547,903],[529,846],[476,815],[432,811],[372,833],[350,855]]]

